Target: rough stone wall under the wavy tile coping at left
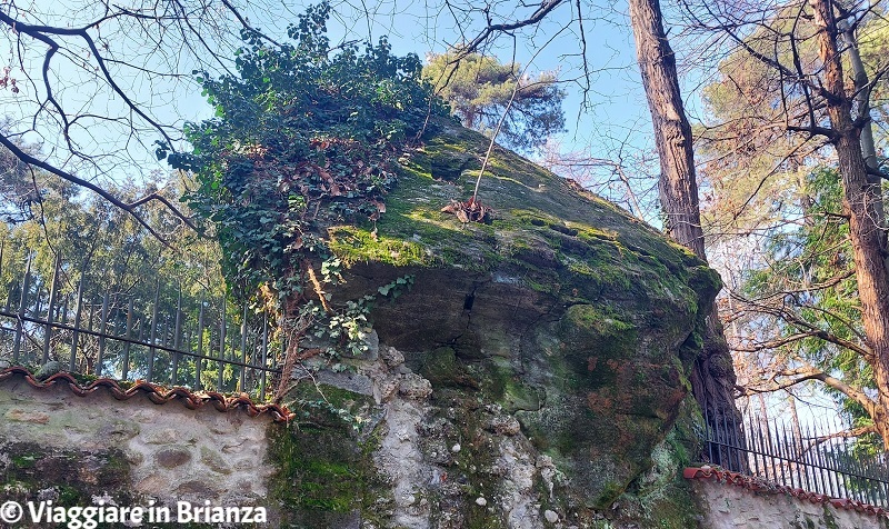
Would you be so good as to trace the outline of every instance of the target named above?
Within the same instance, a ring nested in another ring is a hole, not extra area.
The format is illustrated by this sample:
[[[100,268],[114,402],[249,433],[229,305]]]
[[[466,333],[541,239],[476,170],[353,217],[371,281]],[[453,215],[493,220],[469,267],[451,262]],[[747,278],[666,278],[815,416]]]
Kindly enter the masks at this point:
[[[83,506],[266,505],[267,415],[191,410],[104,388],[74,395],[67,382],[34,388],[0,380],[0,499]],[[272,509],[273,510],[273,509]],[[0,523],[1,526],[2,523]]]

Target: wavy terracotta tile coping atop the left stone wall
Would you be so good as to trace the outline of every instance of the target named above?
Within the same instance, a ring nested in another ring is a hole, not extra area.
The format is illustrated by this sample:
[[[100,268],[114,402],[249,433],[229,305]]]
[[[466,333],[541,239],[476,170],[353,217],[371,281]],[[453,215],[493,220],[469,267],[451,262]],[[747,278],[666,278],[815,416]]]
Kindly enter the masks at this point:
[[[99,389],[108,391],[117,400],[129,400],[138,395],[148,397],[156,405],[164,405],[172,400],[178,400],[186,408],[194,410],[203,406],[211,405],[218,411],[243,410],[250,417],[266,415],[271,417],[274,422],[287,422],[293,418],[293,413],[286,407],[278,405],[257,405],[247,393],[238,397],[227,397],[216,391],[191,391],[187,388],[164,388],[143,380],[137,380],[130,388],[123,389],[117,380],[100,378],[82,386],[70,373],[59,372],[49,377],[44,381],[37,380],[31,372],[22,367],[11,367],[0,370],[0,383],[4,380],[21,378],[36,389],[44,389],[52,386],[67,386],[72,393],[78,397],[86,397]]]

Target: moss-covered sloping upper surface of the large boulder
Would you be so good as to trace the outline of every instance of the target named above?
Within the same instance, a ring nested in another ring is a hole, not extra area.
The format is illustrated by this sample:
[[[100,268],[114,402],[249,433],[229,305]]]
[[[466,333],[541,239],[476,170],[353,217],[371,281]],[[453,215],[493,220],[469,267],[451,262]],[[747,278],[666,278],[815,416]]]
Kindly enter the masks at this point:
[[[667,277],[683,275],[689,260],[686,250],[651,237],[653,230],[613,204],[572,190],[552,173],[502,149],[495,149],[490,172],[481,180],[481,200],[496,210],[492,224],[461,224],[442,213],[442,207],[471,193],[477,174],[467,169],[475,168],[487,150],[487,139],[442,122],[430,130],[426,146],[402,159],[398,187],[387,197],[387,212],[376,224],[377,239],[370,236],[370,228],[361,232],[336,229],[334,239],[337,232],[347,234],[333,242],[334,251],[347,261],[525,269],[539,266],[533,262],[536,246],[527,243],[537,240],[557,251],[568,272],[531,279],[530,286],[540,291],[558,295],[576,288],[598,295],[606,288],[626,290],[643,278],[645,288],[688,290],[685,278],[671,281]],[[448,177],[437,180],[442,173]],[[403,242],[411,248],[402,251],[398,244]],[[652,264],[669,269],[670,275],[651,273]],[[535,270],[530,271],[533,277]],[[576,285],[555,289],[566,282]]]

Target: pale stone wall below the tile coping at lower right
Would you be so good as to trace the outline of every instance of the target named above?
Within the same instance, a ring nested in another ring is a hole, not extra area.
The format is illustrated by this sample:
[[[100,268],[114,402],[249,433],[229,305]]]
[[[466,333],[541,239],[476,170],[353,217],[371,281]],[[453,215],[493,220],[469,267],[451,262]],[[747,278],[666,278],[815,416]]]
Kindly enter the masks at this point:
[[[878,529],[889,518],[782,492],[751,491],[716,480],[691,480],[707,529]]]

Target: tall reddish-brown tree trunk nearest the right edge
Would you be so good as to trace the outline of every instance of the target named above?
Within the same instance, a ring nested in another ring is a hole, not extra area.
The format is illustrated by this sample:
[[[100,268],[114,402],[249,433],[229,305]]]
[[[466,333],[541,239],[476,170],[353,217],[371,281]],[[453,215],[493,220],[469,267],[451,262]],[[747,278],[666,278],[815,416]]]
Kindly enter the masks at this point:
[[[867,163],[861,151],[861,130],[852,120],[852,99],[843,86],[842,60],[837,47],[839,36],[830,0],[811,0],[815,22],[819,28],[819,56],[825,64],[825,98],[833,146],[837,149],[843,187],[843,207],[849,213],[849,238],[861,301],[861,322],[872,357],[877,401],[880,413],[875,423],[889,450],[889,273],[886,266],[885,236],[878,214],[881,206],[879,186],[868,180]]]

